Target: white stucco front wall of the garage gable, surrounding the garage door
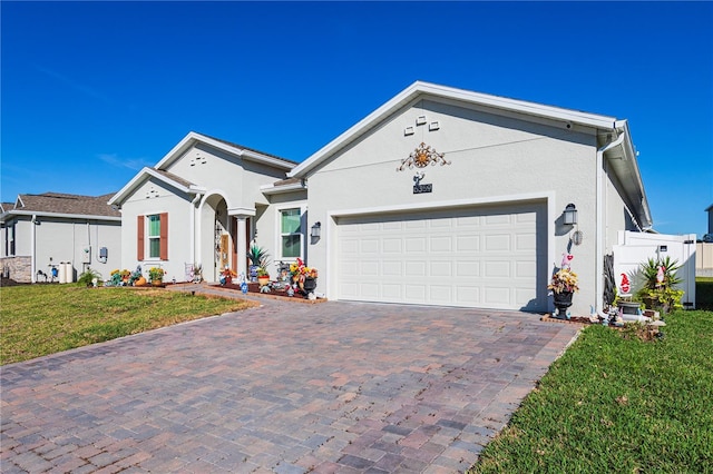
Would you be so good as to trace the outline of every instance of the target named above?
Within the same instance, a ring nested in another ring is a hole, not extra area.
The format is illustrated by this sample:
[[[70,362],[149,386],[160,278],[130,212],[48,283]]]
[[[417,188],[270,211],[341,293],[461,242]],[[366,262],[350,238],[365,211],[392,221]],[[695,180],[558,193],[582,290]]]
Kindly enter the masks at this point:
[[[419,116],[427,124],[416,126]],[[439,129],[429,131],[438,121]],[[414,134],[404,136],[404,128]],[[423,169],[430,194],[413,194],[416,170],[397,171],[401,159],[421,142],[446,154],[447,166]],[[418,208],[459,200],[510,201],[528,196],[550,196],[547,217],[555,235],[548,241],[548,267],[559,266],[572,227],[561,225],[561,210],[574,203],[578,229],[585,239],[572,247],[573,269],[580,277],[574,312],[588,314],[595,303],[596,142],[589,130],[564,125],[531,124],[497,117],[452,105],[418,102],[402,109],[362,139],[334,155],[309,177],[310,226],[325,223],[330,213],[378,209],[387,206]],[[326,240],[311,246],[311,265],[328,266]],[[332,250],[333,251],[333,250]],[[547,285],[547,280],[541,282]]]

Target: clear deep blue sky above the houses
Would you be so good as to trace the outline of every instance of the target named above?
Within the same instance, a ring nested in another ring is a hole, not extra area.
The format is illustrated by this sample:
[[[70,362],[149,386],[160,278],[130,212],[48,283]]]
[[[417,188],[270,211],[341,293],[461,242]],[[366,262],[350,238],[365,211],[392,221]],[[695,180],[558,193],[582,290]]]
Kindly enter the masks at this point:
[[[711,2],[2,1],[0,14],[2,201],[117,191],[191,130],[302,161],[424,80],[628,119],[654,228],[707,231]]]

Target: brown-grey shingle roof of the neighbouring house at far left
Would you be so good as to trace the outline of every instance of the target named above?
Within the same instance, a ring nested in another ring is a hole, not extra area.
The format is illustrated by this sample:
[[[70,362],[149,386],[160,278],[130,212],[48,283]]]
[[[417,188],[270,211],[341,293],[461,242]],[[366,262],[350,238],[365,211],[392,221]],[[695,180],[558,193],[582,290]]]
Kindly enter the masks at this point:
[[[41,195],[19,195],[18,200],[4,210],[25,210],[51,214],[75,214],[82,216],[121,217],[121,213],[107,205],[113,194],[102,196],[80,196],[61,192]]]

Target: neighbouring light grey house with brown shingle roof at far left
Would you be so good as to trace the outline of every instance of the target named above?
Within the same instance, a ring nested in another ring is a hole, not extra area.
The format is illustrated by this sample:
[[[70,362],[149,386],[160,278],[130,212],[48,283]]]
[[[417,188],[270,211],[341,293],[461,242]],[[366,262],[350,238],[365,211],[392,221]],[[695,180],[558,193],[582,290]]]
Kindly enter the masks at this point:
[[[121,215],[107,205],[110,196],[45,192],[3,203],[3,276],[22,283],[51,280],[52,268],[69,264],[67,280],[88,267],[109,278],[121,263]]]

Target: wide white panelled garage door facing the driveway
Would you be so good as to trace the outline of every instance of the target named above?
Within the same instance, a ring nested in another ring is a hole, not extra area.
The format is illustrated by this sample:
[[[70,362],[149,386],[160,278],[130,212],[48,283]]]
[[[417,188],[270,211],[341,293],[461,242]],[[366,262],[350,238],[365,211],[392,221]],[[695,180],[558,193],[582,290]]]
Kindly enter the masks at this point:
[[[545,209],[531,204],[339,218],[339,298],[545,310]]]

